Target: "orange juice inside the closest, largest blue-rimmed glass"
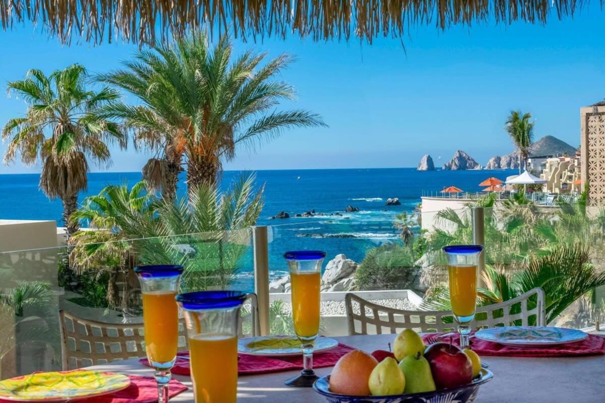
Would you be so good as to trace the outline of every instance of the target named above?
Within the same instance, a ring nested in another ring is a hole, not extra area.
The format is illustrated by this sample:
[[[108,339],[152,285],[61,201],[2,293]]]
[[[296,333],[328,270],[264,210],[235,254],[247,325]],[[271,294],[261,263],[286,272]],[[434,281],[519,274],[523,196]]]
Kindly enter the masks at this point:
[[[235,403],[237,337],[201,334],[189,338],[195,403]]]

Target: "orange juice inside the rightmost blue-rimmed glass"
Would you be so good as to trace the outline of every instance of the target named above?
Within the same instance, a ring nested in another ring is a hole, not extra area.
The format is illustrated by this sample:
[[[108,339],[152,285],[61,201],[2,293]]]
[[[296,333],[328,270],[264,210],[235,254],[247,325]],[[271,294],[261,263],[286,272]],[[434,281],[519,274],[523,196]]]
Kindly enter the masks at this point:
[[[477,266],[448,266],[452,311],[459,317],[471,316],[477,300]]]

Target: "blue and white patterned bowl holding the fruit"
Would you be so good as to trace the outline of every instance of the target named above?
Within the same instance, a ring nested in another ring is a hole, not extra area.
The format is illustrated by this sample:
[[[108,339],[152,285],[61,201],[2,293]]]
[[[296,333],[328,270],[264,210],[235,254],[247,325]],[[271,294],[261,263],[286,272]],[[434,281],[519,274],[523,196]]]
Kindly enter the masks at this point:
[[[482,369],[477,378],[468,385],[457,388],[436,390],[435,392],[408,393],[393,396],[347,396],[330,392],[330,376],[319,378],[313,389],[325,396],[329,403],[473,403],[479,393],[479,386],[491,381],[494,374]]]

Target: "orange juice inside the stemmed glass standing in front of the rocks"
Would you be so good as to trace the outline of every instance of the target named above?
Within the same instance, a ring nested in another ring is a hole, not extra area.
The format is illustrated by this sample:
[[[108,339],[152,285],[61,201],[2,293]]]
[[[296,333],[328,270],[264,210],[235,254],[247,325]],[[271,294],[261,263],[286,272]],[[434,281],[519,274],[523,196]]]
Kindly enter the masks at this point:
[[[299,337],[313,337],[319,332],[319,272],[292,272],[292,317]]]

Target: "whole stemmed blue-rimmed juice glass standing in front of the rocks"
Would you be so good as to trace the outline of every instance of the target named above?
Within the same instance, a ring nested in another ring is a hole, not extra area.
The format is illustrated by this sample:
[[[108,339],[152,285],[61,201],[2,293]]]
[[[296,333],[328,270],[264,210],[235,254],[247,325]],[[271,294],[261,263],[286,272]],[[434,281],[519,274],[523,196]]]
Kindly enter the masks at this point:
[[[290,251],[284,253],[290,269],[292,320],[301,342],[301,375],[286,381],[293,387],[311,387],[318,378],[313,372],[313,349],[319,333],[319,303],[321,301],[321,263],[325,252]]]

